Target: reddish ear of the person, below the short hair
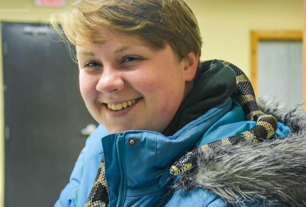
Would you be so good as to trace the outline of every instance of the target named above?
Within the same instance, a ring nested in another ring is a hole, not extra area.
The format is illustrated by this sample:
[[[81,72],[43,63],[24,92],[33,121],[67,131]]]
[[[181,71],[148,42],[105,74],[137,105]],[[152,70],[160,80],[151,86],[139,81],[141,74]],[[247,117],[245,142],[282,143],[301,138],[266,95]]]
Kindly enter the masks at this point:
[[[185,81],[192,81],[196,75],[199,62],[199,53],[191,52],[183,58],[185,64]]]

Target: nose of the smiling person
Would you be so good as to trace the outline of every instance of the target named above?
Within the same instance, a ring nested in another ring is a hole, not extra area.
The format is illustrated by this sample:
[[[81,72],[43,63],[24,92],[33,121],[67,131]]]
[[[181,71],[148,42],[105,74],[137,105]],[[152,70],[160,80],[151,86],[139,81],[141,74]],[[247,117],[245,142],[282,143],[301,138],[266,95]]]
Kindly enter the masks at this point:
[[[114,93],[124,89],[125,82],[122,78],[122,71],[113,66],[104,65],[103,72],[96,89],[102,93]]]

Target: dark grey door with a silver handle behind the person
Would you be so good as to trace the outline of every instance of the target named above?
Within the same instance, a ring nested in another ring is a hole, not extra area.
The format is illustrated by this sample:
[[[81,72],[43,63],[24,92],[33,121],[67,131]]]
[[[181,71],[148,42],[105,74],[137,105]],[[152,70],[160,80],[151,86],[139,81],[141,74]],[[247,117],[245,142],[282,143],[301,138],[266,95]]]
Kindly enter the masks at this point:
[[[78,67],[49,26],[1,27],[5,206],[53,206],[84,147],[81,129],[97,123],[80,95]]]

